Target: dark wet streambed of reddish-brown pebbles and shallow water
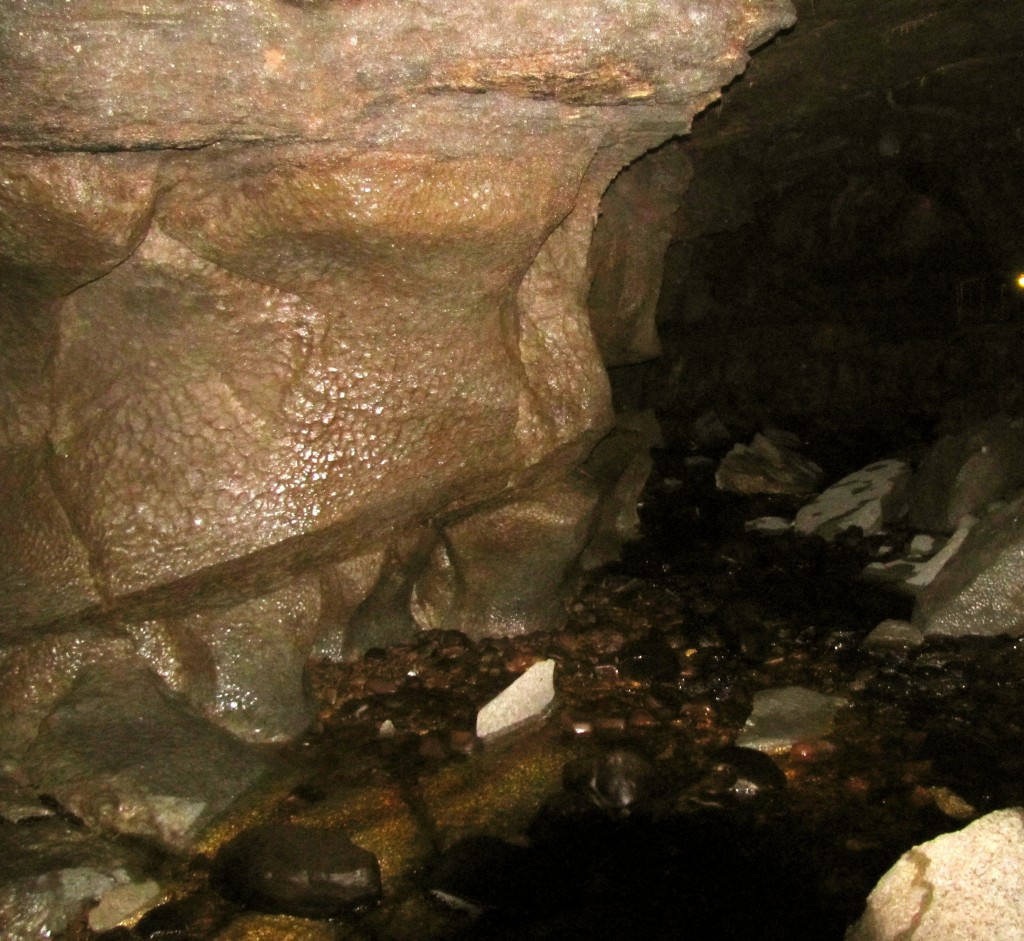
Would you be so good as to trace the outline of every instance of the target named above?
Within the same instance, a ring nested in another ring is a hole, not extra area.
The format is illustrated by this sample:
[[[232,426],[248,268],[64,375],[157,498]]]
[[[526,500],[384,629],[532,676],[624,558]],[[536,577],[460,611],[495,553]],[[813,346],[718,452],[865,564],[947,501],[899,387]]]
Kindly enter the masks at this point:
[[[860,580],[879,539],[744,531],[744,518],[794,509],[656,474],[645,538],[588,578],[564,631],[482,642],[427,632],[357,662],[319,665],[318,727],[286,750],[295,781],[263,815],[354,820],[356,842],[381,857],[382,904],[315,931],[301,919],[253,922],[209,901],[193,861],[181,885],[206,901],[184,906],[173,934],[166,919],[155,923],[164,934],[138,934],[841,939],[905,850],[1024,803],[1024,642],[864,647],[911,601]],[[551,715],[481,750],[477,709],[548,657]],[[754,695],[792,685],[849,704],[825,736],[773,756],[785,786],[755,780],[744,795],[709,783]],[[643,778],[618,805],[595,797],[580,770],[616,748],[641,756]],[[359,806],[380,806],[353,816],[353,793]],[[412,823],[395,836],[403,814]],[[480,835],[501,838],[514,860],[470,854],[457,868],[471,872],[450,873],[472,883],[472,913],[429,897],[433,860]],[[401,860],[389,861],[397,844]]]

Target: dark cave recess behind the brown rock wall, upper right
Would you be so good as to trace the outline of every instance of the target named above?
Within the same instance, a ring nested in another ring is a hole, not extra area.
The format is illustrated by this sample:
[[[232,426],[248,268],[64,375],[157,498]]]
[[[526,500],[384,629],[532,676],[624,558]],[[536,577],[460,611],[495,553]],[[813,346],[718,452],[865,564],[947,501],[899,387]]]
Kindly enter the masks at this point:
[[[681,146],[664,354],[612,368],[670,443],[714,410],[932,438],[1024,408],[1024,27],[1012,2],[797,2]]]

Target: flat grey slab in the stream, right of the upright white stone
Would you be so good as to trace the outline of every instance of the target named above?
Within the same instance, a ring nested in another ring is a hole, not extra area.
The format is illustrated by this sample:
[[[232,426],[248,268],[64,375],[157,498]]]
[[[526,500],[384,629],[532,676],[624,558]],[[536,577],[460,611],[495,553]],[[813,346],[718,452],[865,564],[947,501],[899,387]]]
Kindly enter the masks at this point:
[[[759,752],[781,752],[798,741],[820,738],[847,702],[842,696],[827,696],[802,686],[762,690],[754,696],[754,710],[736,744]]]

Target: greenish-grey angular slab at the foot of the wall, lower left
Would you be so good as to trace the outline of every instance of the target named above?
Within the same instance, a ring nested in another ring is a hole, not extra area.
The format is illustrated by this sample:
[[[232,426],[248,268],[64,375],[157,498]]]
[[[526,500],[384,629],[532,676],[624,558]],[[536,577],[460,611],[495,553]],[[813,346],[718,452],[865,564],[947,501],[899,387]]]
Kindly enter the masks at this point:
[[[186,850],[272,767],[156,676],[89,668],[44,722],[25,770],[86,823]]]

